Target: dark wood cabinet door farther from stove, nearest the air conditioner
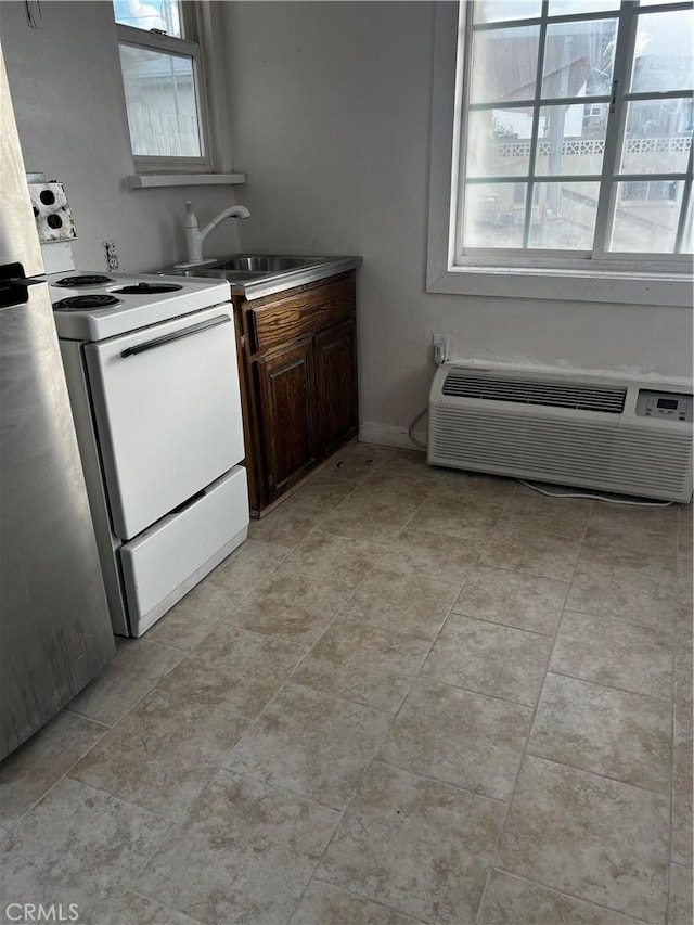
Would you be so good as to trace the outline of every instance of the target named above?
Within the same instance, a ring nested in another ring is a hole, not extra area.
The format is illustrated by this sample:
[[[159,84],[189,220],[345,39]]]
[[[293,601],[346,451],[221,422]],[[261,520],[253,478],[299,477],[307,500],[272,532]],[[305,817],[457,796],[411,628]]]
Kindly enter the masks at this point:
[[[316,408],[321,453],[327,454],[357,433],[355,322],[316,337]]]

